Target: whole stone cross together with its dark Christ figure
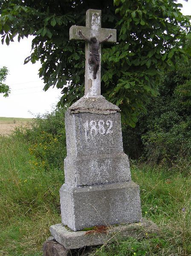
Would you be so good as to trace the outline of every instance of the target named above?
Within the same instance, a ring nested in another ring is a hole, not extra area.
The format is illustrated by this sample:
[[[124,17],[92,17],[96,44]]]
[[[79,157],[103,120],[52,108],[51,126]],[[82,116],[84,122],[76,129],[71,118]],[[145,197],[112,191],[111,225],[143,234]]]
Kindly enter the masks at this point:
[[[101,28],[101,11],[86,12],[86,26],[71,26],[69,40],[82,40],[85,48],[85,98],[101,96],[101,43],[115,43],[116,29]]]

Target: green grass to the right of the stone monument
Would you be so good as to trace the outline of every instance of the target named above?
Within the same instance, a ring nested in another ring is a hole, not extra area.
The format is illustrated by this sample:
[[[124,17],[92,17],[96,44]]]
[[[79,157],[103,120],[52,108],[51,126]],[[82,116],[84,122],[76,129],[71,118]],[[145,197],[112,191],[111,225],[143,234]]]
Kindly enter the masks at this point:
[[[126,243],[105,244],[96,256],[187,256],[191,255],[191,167],[187,173],[161,166],[131,163],[132,179],[140,186],[142,216],[161,229],[156,236]],[[132,249],[133,248],[133,249]]]

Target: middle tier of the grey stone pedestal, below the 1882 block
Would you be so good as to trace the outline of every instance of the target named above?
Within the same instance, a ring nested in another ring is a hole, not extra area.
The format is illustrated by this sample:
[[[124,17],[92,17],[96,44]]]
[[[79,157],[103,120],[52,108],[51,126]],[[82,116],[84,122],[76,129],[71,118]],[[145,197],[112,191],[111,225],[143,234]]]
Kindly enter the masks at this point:
[[[65,182],[74,186],[122,182],[131,180],[126,154],[101,154],[64,160]]]

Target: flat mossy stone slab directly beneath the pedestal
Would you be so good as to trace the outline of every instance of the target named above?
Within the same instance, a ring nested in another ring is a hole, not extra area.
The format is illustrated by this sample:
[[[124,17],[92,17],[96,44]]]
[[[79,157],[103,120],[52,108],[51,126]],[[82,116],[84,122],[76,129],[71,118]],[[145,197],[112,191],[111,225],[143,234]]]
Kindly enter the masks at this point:
[[[63,224],[50,227],[52,236],[67,249],[81,248],[84,246],[98,245],[115,241],[123,241],[129,236],[144,237],[146,233],[159,233],[159,228],[152,221],[145,218],[142,222],[108,226],[105,233],[88,233],[86,231],[71,231]]]

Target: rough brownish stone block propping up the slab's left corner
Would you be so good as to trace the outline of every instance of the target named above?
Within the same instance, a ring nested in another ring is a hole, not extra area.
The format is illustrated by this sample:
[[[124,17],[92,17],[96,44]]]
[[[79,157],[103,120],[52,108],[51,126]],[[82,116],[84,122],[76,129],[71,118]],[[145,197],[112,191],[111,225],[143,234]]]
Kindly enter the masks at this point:
[[[43,244],[43,256],[68,256],[69,250],[50,237]]]

